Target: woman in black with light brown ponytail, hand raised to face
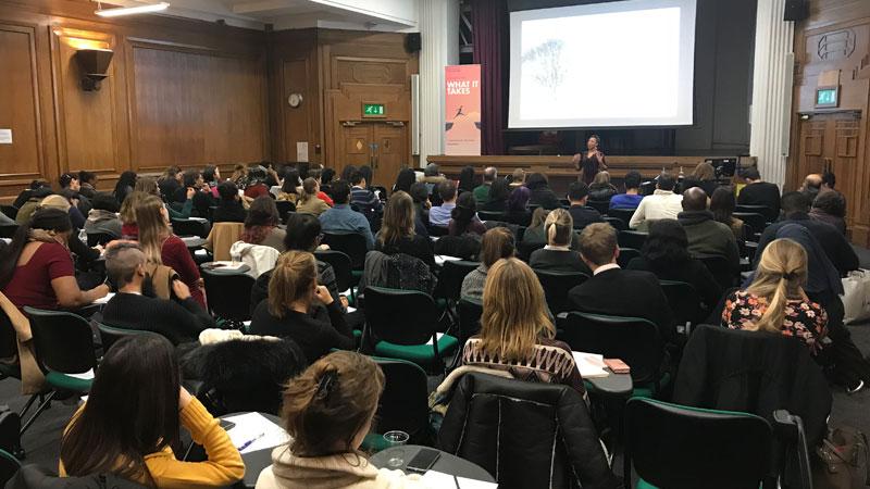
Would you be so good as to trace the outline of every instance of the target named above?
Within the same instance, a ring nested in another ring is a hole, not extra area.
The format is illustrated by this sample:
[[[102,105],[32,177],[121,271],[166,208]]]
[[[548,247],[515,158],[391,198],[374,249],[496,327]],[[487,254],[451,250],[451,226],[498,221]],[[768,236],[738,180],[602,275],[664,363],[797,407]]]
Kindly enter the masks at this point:
[[[269,280],[269,297],[253,311],[250,333],[290,338],[313,362],[338,348],[355,347],[353,330],[330,290],[318,285],[314,255],[288,251],[278,258]]]

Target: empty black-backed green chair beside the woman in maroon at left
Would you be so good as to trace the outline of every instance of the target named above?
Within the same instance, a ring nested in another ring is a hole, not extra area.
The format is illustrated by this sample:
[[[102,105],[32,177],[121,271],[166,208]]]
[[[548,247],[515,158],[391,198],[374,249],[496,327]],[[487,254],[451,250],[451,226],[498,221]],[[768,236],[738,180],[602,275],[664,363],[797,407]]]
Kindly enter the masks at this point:
[[[94,333],[82,316],[64,311],[24,308],[30,318],[36,361],[54,391],[90,391],[97,356]]]

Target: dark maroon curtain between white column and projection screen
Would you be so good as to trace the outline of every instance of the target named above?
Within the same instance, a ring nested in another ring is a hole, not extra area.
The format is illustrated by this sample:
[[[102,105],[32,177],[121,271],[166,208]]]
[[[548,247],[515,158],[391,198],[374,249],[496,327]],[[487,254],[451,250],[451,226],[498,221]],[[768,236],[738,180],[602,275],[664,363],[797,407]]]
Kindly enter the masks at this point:
[[[505,59],[508,11],[504,0],[473,0],[474,64],[481,65],[481,154],[505,154],[505,104],[507,67]]]

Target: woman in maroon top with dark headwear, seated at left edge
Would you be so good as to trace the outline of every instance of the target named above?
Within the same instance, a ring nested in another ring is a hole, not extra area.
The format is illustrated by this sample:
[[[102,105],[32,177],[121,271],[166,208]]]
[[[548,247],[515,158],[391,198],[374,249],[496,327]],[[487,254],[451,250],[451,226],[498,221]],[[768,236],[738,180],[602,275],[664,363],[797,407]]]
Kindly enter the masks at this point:
[[[12,243],[0,248],[0,290],[18,308],[77,309],[109,293],[101,284],[82,290],[75,280],[67,240],[70,214],[44,209],[18,227]]]

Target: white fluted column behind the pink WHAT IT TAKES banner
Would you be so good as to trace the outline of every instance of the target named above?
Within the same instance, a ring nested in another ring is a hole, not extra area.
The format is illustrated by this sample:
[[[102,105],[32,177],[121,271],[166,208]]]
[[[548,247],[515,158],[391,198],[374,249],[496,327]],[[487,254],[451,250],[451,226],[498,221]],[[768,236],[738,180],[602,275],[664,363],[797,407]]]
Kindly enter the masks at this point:
[[[444,67],[459,63],[459,0],[420,1],[420,164],[444,154]]]

